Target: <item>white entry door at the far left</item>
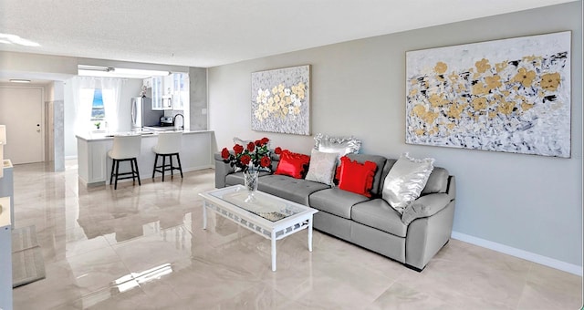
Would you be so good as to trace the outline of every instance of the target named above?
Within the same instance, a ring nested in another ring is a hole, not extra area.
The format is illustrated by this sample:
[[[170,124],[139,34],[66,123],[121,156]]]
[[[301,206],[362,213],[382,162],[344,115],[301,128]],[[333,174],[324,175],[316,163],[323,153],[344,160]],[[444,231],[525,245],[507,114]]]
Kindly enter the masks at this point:
[[[13,164],[44,161],[43,89],[0,87],[0,124],[6,125],[4,158]]]

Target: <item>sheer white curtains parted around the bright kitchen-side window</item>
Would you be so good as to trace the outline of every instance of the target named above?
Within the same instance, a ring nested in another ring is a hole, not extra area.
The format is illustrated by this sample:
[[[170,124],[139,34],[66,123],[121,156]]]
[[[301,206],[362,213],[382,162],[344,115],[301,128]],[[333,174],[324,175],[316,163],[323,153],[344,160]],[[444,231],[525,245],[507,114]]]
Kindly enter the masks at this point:
[[[101,88],[103,109],[105,110],[107,129],[115,132],[119,128],[118,107],[120,106],[120,78],[72,78],[72,91],[75,100],[75,132],[86,133],[93,129],[91,122],[91,108],[95,88]]]

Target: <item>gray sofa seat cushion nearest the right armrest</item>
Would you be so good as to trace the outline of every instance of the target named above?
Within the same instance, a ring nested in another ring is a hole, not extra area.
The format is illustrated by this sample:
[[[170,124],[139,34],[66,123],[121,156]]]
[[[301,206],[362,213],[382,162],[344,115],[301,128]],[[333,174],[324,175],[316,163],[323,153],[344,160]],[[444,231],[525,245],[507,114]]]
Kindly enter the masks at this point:
[[[350,216],[355,222],[385,233],[405,238],[408,232],[408,226],[401,222],[400,212],[395,211],[389,203],[380,198],[354,205]]]

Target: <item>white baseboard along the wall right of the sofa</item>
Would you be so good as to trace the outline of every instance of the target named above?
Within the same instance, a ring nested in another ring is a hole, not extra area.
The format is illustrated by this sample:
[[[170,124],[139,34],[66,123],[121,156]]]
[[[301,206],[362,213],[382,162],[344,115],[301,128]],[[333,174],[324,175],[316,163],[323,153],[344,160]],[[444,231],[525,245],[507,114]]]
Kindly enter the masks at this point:
[[[562,261],[558,261],[557,259],[550,258],[547,256],[539,255],[537,253],[531,253],[524,250],[519,250],[514,247],[501,244],[501,243],[494,243],[492,241],[488,241],[485,239],[477,238],[465,233],[458,233],[453,232],[452,238],[456,240],[460,240],[465,243],[471,243],[474,245],[478,245],[496,252],[506,253],[511,256],[523,258],[527,261],[540,263],[546,265],[551,268],[555,268],[561,271],[565,271],[570,274],[576,274],[582,276],[582,266],[573,264],[573,263],[566,263]]]

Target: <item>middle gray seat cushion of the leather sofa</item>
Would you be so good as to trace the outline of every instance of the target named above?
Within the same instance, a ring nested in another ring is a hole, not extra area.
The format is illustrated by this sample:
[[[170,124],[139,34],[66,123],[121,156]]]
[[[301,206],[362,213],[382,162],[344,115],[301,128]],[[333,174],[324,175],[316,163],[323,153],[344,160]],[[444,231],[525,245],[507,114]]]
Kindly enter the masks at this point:
[[[308,199],[310,207],[335,214],[350,220],[350,209],[354,204],[366,202],[369,198],[350,191],[342,191],[335,187],[328,190],[316,191]]]

